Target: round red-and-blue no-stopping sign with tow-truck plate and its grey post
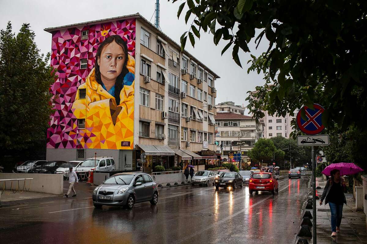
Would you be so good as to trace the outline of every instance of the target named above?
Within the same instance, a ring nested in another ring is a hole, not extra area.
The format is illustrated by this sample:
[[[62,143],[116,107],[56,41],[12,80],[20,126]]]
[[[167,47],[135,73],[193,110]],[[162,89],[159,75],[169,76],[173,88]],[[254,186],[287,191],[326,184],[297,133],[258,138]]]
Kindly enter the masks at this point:
[[[319,104],[313,104],[313,109],[303,106],[297,113],[298,128],[308,136],[297,136],[298,146],[311,146],[312,148],[312,239],[316,244],[316,158],[314,146],[326,146],[329,144],[328,135],[317,135],[321,133],[325,127],[322,124],[322,113],[325,109]],[[304,114],[304,118],[302,118]],[[306,119],[306,120],[305,120]]]

